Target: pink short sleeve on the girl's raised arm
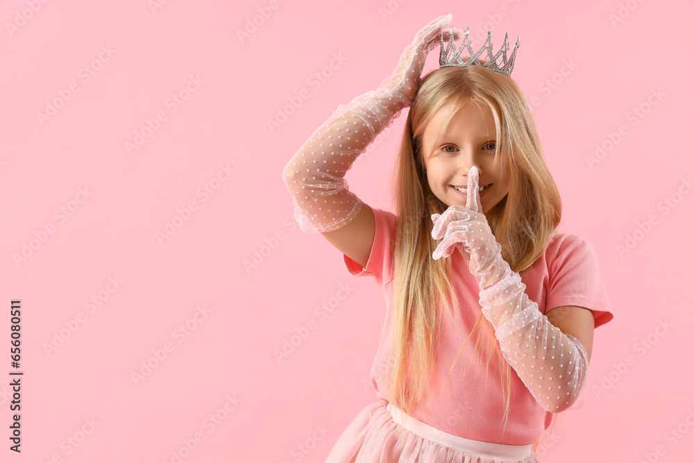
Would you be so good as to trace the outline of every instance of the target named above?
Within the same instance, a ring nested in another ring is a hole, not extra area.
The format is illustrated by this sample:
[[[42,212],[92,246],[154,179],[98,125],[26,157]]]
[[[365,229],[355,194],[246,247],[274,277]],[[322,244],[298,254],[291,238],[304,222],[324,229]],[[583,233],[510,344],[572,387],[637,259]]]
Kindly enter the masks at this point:
[[[344,262],[349,273],[353,276],[373,276],[379,285],[383,285],[383,281],[390,280],[391,274],[390,265],[386,262],[391,262],[393,239],[395,239],[395,224],[396,215],[386,210],[372,208],[369,205],[366,207],[373,212],[375,221],[375,235],[373,237],[373,245],[371,245],[371,253],[369,260],[366,262],[366,267],[362,267],[354,260],[343,254]]]

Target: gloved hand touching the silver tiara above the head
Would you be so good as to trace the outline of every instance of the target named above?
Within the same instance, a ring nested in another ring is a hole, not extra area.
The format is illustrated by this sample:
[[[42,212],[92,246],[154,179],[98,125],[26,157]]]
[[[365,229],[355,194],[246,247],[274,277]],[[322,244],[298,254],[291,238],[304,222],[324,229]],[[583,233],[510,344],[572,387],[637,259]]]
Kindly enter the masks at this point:
[[[450,24],[452,19],[453,15],[449,13],[424,26],[414,37],[412,44],[403,51],[396,70],[382,81],[380,87],[396,92],[409,106],[417,91],[425,60],[429,52],[440,44],[441,29]],[[462,36],[461,29],[453,30],[453,40],[459,40]],[[447,42],[449,38],[450,30],[444,30],[443,40]]]

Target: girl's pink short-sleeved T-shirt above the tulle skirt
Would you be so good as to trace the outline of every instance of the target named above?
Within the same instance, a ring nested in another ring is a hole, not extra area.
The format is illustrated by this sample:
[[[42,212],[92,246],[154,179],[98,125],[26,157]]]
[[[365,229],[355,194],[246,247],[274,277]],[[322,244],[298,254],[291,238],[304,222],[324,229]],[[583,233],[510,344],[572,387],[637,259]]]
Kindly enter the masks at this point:
[[[393,314],[391,260],[397,217],[392,212],[370,209],[375,219],[375,237],[366,268],[343,256],[352,275],[373,276],[383,290],[386,323],[371,369],[371,384],[378,398],[390,401],[388,375],[392,362],[387,359],[391,338],[389,321]],[[448,378],[448,387],[444,390],[455,355],[482,310],[479,303],[480,287],[468,264],[457,251],[449,259],[453,259],[452,271],[456,276],[452,279],[452,286],[466,310],[455,313],[455,319],[450,317],[447,310],[443,310],[443,336],[438,340],[439,356],[432,367],[429,396],[412,416],[434,428],[468,439],[509,445],[530,444],[550,426],[552,413],[536,402],[516,371],[511,369],[511,407],[502,437],[504,404],[498,360],[491,355],[489,374],[486,375],[485,354],[482,351],[474,353],[475,338],[468,341],[458,357]],[[582,237],[555,232],[548,249],[532,264],[522,280],[526,285],[525,293],[537,303],[542,313],[562,305],[584,307],[593,310],[595,328],[614,317],[600,277],[595,248]],[[484,321],[486,319],[480,323]],[[477,329],[480,328],[484,329]],[[478,349],[483,349],[483,345],[484,338],[481,338]],[[466,368],[469,370],[463,376]]]

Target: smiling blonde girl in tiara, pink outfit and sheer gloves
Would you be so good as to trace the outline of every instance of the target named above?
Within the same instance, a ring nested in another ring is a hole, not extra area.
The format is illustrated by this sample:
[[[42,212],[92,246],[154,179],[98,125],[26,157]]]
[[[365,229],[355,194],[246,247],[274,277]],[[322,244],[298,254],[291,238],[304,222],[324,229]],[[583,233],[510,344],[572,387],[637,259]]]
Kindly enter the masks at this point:
[[[556,230],[559,192],[511,78],[519,42],[493,56],[490,31],[479,60],[468,29],[444,30],[451,19],[419,31],[378,90],[341,105],[283,173],[303,232],[387,302],[378,401],[328,462],[538,463],[552,418],[582,405],[593,331],[613,318],[593,245]],[[439,44],[440,68],[421,79]],[[408,107],[393,214],[344,176]]]

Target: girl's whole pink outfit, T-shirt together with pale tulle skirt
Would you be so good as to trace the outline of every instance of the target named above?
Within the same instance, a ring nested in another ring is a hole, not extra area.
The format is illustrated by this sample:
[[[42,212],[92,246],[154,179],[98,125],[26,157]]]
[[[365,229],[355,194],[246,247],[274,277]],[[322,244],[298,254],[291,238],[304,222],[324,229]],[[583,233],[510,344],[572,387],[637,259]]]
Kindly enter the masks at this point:
[[[369,206],[364,204],[364,207]],[[409,417],[406,427],[401,425],[400,410],[389,400],[388,362],[392,358],[388,321],[393,315],[391,264],[397,217],[378,208],[371,211],[375,237],[366,267],[362,268],[346,255],[344,262],[352,275],[373,277],[386,301],[386,323],[370,375],[378,401],[357,414],[326,462],[538,463],[532,442],[549,427],[552,413],[535,400],[514,369],[511,369],[511,407],[505,432],[502,432],[502,386],[496,373],[498,360],[491,360],[486,374],[484,354],[475,353],[475,342],[468,342],[446,384],[455,355],[482,310],[477,279],[457,251],[449,257],[453,259],[455,273],[451,283],[466,310],[454,311],[453,317],[443,311],[439,356],[432,368],[428,396]],[[595,249],[582,237],[555,232],[548,249],[523,277],[523,283],[525,293],[543,314],[552,308],[576,305],[593,311],[595,328],[613,318]],[[468,371],[464,376],[465,369]]]

